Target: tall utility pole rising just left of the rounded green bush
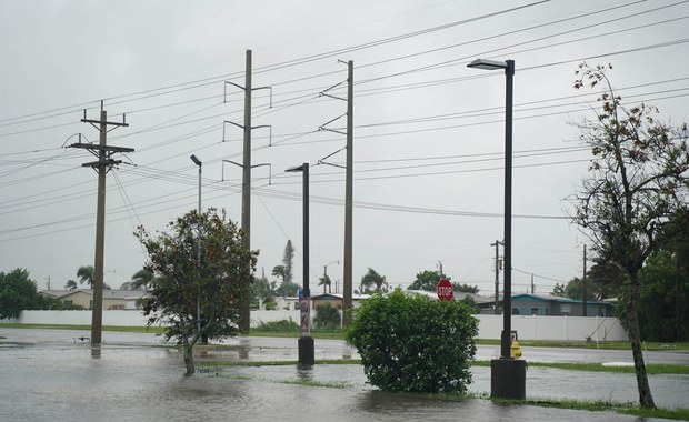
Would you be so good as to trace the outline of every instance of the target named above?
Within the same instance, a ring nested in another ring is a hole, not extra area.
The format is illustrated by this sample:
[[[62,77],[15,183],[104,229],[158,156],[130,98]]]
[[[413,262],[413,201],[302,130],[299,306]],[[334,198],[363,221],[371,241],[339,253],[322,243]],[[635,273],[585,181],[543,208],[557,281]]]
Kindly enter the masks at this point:
[[[353,122],[355,122],[355,62],[347,62],[347,170],[344,178],[344,259],[342,323],[351,322],[352,308],[352,213],[353,213]]]

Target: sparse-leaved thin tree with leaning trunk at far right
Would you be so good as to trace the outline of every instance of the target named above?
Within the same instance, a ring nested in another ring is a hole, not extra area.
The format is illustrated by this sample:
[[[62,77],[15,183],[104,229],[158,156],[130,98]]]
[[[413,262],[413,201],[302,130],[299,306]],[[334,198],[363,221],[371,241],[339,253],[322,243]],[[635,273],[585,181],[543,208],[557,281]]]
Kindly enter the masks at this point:
[[[661,123],[656,108],[622,105],[606,76],[609,69],[582,63],[577,71],[575,88],[601,84],[603,91],[596,119],[578,124],[593,158],[573,195],[573,220],[591,240],[597,261],[626,274],[628,295],[620,304],[631,340],[639,402],[655,408],[641,353],[639,275],[663,240],[676,238],[668,221],[689,207],[689,131],[686,124]]]

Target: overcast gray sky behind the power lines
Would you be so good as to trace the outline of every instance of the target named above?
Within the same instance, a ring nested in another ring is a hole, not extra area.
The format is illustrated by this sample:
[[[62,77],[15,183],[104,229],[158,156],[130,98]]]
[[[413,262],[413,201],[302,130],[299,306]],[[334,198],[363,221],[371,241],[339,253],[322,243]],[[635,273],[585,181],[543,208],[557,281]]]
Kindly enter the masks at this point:
[[[0,271],[26,268],[61,289],[93,264],[97,174],[76,142],[98,141],[83,109],[128,128],[134,148],[108,174],[106,282],[146,262],[138,224],[164,230],[197,207],[239,222],[246,50],[253,52],[251,245],[270,277],[288,239],[301,282],[301,175],[311,168],[312,285],[323,265],[341,291],[344,171],[317,165],[344,147],[318,131],[346,113],[319,92],[355,62],[353,282],[373,268],[406,288],[442,262],[453,281],[491,294],[490,243],[502,239],[505,76],[475,58],[513,59],[513,291],[548,293],[581,274],[586,237],[567,197],[590,153],[571,122],[593,118],[597,92],[572,88],[579,62],[612,63],[626,103],[687,121],[687,1],[23,1],[0,2]],[[227,96],[224,94],[227,89]],[[346,83],[329,91],[346,94]],[[329,124],[344,129],[344,118]],[[224,133],[224,140],[223,140]],[[71,137],[71,138],[70,138]],[[342,164],[344,151],[328,159]],[[316,288],[314,292],[319,292]]]

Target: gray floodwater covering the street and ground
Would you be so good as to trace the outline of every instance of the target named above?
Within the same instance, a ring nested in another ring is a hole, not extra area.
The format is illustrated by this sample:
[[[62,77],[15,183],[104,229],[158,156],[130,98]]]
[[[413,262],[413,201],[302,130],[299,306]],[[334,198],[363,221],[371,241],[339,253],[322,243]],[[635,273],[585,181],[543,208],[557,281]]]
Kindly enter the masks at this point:
[[[488,400],[443,401],[377,391],[359,365],[224,366],[197,363],[183,375],[181,355],[151,336],[103,333],[103,345],[78,332],[1,329],[0,421],[636,421],[608,412],[500,405]],[[88,334],[86,334],[88,335]],[[292,344],[294,343],[294,344]],[[212,352],[211,352],[212,353]],[[234,339],[223,360],[296,360],[294,339]],[[317,341],[317,358],[351,354],[342,342]],[[321,356],[324,354],[326,356]],[[490,369],[475,368],[469,390],[490,390]],[[314,381],[328,386],[290,384]],[[532,368],[527,395],[636,401],[633,375]],[[657,404],[686,406],[689,376],[651,376]]]

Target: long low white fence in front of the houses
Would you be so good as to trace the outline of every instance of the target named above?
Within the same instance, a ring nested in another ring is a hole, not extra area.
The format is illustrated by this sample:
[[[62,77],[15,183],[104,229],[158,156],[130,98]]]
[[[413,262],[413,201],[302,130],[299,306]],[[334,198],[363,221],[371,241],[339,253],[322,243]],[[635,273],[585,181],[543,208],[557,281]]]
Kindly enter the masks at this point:
[[[313,316],[313,314],[311,314]],[[502,315],[476,315],[479,319],[479,339],[499,339]],[[251,325],[261,322],[299,321],[299,311],[253,311]],[[1,323],[90,325],[91,311],[23,311],[16,320]],[[139,311],[103,311],[103,325],[146,326],[147,318]],[[543,316],[512,315],[512,330],[519,340],[571,340],[590,338],[592,341],[625,341],[627,332],[619,320],[602,316]]]

